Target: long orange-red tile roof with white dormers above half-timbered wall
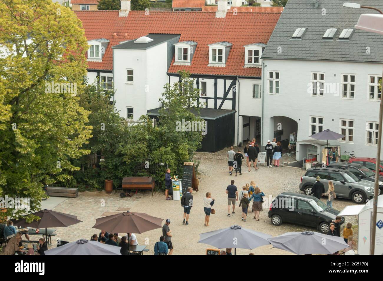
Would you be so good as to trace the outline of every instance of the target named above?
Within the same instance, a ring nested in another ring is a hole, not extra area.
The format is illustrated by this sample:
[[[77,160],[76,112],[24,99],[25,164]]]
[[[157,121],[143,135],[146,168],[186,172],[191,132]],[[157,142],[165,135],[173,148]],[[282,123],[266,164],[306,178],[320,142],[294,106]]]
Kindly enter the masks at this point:
[[[216,18],[215,12],[203,11],[130,11],[128,17],[119,17],[118,11],[75,11],[81,19],[87,40],[110,40],[102,62],[88,62],[88,69],[112,70],[111,47],[119,42],[138,38],[149,33],[180,34],[180,41],[198,43],[190,66],[173,65],[170,73],[188,70],[192,74],[261,76],[261,68],[244,68],[244,45],[268,42],[280,13],[242,12],[227,13]],[[113,38],[116,33],[117,38]],[[226,67],[208,67],[208,44],[232,43]]]

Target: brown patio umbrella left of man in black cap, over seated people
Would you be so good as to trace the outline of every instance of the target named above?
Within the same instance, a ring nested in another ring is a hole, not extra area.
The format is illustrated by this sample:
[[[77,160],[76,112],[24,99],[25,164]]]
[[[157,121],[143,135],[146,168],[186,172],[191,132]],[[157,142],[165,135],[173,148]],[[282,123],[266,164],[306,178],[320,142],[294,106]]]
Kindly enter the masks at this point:
[[[121,214],[98,218],[93,228],[105,230],[109,233],[143,233],[161,228],[163,220],[145,213],[127,211]],[[130,245],[129,236],[128,244]]]

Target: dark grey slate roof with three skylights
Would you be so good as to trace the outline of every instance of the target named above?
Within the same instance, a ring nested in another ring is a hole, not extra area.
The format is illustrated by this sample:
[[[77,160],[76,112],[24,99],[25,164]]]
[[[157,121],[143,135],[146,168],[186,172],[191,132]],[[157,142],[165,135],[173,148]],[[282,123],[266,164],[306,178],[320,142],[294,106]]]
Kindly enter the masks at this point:
[[[338,40],[344,28],[355,28],[362,13],[371,9],[343,7],[347,0],[289,0],[279,18],[262,58],[383,62],[383,35],[355,29],[349,40]],[[349,1],[383,10],[382,0]],[[325,10],[323,10],[325,9]],[[326,15],[322,15],[322,13]],[[291,39],[297,28],[306,28],[302,39]],[[323,40],[328,28],[337,28],[333,40]],[[278,47],[282,51],[278,54]],[[369,47],[370,54],[366,54]],[[282,48],[282,49],[281,49]]]

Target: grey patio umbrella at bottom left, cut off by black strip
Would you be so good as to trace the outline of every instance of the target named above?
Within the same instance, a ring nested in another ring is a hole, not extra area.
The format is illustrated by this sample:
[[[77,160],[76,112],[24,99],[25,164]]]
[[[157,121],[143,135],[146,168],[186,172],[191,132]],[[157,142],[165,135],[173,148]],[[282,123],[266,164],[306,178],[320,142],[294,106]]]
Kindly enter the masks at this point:
[[[46,255],[121,255],[120,247],[102,244],[97,241],[79,239],[76,242],[47,250]]]

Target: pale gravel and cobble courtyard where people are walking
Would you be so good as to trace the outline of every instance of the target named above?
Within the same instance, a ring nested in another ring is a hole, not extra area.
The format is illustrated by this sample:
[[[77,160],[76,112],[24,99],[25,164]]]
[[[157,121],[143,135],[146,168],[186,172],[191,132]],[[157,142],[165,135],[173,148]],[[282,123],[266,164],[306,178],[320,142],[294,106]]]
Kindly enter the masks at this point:
[[[274,198],[286,191],[301,193],[299,183],[300,177],[304,174],[303,170],[292,167],[268,169],[260,166],[257,171],[254,171],[253,168],[251,172],[248,172],[247,168],[244,167],[242,175],[235,177],[235,173],[233,173],[231,176],[228,173],[226,150],[217,153],[196,153],[195,161],[200,161],[198,167],[200,186],[198,192],[193,192],[194,206],[191,209],[188,226],[182,224],[183,209],[180,206],[180,201],[165,200],[163,192],[157,192],[153,197],[151,192],[140,192],[131,198],[120,198],[120,191],[110,195],[107,195],[105,192],[81,192],[79,197],[68,198],[54,208],[55,211],[76,215],[78,219],[83,221],[67,228],[57,228],[56,238],[70,242],[79,238],[90,239],[92,234],[100,232],[97,229],[92,229],[95,219],[100,218],[105,212],[118,212],[118,208],[130,208],[130,211],[147,213],[163,219],[169,218],[171,221],[170,229],[173,234],[173,254],[177,255],[205,254],[206,248],[211,248],[211,246],[197,243],[199,234],[229,227],[233,224],[272,236],[292,231],[317,231],[315,228],[287,223],[281,226],[273,226],[267,214],[270,204],[268,202],[270,202],[271,197]],[[246,162],[242,164],[242,166],[245,165]],[[235,180],[238,190],[242,190],[243,185],[254,180],[265,193],[267,200],[265,200],[266,202],[263,207],[264,211],[260,213],[260,221],[255,221],[250,213],[248,214],[247,222],[241,221],[241,211],[238,203],[236,213],[231,217],[227,216],[227,194],[225,190],[232,179]],[[216,209],[216,214],[210,216],[209,227],[204,226],[203,197],[205,197],[206,192],[212,193]],[[325,202],[325,198],[322,201]],[[337,210],[342,210],[347,205],[353,205],[353,203],[350,200],[337,199],[333,207]],[[347,218],[346,222],[351,222],[354,226],[357,224],[355,218]],[[357,228],[353,227],[353,229],[354,238],[357,241]],[[158,241],[161,235],[161,229],[137,234],[138,243],[141,245],[146,244],[150,250],[145,254],[153,254],[154,243]],[[271,245],[266,245],[254,250],[238,249],[237,254],[249,254],[250,252],[264,255],[291,254],[283,250],[271,248]]]

